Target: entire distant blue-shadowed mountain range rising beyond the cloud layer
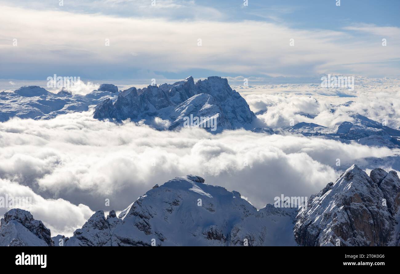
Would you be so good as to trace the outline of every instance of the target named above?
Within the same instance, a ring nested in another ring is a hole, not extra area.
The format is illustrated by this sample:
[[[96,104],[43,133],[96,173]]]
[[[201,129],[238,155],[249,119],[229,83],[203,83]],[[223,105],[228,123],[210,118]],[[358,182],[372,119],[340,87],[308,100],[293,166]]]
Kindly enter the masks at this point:
[[[339,106],[353,103],[349,101],[338,106],[332,105],[330,111],[333,113]],[[335,128],[312,122],[299,122],[283,129],[255,127],[260,124],[257,116],[268,110],[254,114],[246,100],[230,88],[228,80],[218,76],[196,83],[190,76],[174,84],[149,85],[142,89],[132,87],[123,91],[113,84],[102,84],[98,90],[86,95],[71,94],[65,89],[55,94],[38,86],[24,86],[14,92],[0,92],[0,122],[12,117],[50,119],[59,114],[87,111],[89,106],[96,106],[93,115],[96,119],[144,121],[160,130],[182,128],[189,118],[197,117],[201,120],[194,126],[203,127],[211,133],[244,128],[264,134],[302,134],[344,143],[354,140],[368,146],[400,148],[400,130],[358,113],[349,113],[352,121],[342,122]],[[308,119],[318,115],[305,112],[297,114]],[[156,118],[164,122],[160,123]],[[210,120],[215,121],[214,127],[207,124]]]

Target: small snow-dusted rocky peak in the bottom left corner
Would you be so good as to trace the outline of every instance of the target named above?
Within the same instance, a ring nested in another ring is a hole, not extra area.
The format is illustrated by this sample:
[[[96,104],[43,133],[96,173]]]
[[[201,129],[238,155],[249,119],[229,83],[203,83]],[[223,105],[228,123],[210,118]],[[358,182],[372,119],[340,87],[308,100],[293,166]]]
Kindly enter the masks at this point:
[[[0,246],[53,246],[50,230],[26,210],[11,209],[0,220]]]

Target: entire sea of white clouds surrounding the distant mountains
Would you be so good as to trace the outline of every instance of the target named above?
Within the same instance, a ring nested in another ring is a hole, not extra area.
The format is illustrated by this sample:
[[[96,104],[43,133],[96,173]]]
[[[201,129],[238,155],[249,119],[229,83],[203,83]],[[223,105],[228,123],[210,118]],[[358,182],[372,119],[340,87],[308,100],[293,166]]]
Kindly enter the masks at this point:
[[[236,87],[254,111],[268,108],[256,124],[284,128],[290,119],[334,127],[358,112],[398,128],[400,97],[392,83],[344,90],[315,85]],[[340,94],[340,96],[338,96]],[[350,106],[336,107],[348,100]],[[296,114],[318,114],[314,119]],[[389,115],[390,114],[390,115]],[[160,131],[143,123],[98,121],[93,110],[51,120],[13,118],[0,123],[0,193],[30,196],[30,212],[52,235],[81,227],[95,210],[126,208],[138,196],[175,176],[195,174],[206,183],[236,190],[256,208],[274,197],[310,196],[335,181],[336,159],[351,165],[392,154],[388,148],[300,135],[248,130],[210,134],[201,128]],[[390,166],[384,168],[390,169]],[[110,206],[106,206],[106,199]],[[0,215],[8,209],[0,208]]]

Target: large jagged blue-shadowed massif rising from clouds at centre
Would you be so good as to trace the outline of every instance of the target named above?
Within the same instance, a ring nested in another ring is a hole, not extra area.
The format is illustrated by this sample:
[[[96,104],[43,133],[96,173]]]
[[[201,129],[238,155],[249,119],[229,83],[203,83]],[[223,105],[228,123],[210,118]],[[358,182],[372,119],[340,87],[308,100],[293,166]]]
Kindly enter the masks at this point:
[[[200,123],[210,132],[246,128],[254,119],[246,100],[232,90],[228,80],[212,76],[194,83],[190,76],[174,84],[124,90],[113,104],[111,100],[96,106],[94,118],[122,121],[145,120],[151,124],[155,117],[168,120],[173,130],[184,126],[185,117],[216,119],[216,130]]]

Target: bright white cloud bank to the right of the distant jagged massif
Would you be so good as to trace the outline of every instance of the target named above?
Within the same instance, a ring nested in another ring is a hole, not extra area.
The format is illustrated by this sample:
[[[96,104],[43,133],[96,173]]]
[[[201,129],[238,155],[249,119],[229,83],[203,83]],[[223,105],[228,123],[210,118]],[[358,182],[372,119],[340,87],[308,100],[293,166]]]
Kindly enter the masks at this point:
[[[291,119],[335,128],[344,121],[352,122],[350,114],[359,113],[398,129],[399,80],[356,76],[355,83],[352,92],[346,88],[321,88],[320,84],[280,84],[246,88],[241,94],[253,111],[268,109],[258,117],[272,128],[288,127]],[[348,101],[354,103],[340,106]],[[332,108],[336,111],[332,112]],[[298,112],[318,115],[307,118]]]

